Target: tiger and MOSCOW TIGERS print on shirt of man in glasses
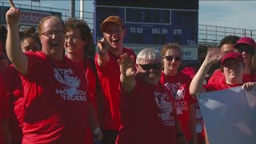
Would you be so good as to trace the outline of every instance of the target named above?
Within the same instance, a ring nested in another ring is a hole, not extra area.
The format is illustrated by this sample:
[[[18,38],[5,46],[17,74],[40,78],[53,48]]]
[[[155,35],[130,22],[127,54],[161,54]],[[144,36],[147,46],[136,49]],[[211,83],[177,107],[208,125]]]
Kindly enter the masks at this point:
[[[56,90],[66,101],[86,101],[86,91],[78,90],[80,79],[72,70],[54,68],[54,77],[66,85],[65,90]]]

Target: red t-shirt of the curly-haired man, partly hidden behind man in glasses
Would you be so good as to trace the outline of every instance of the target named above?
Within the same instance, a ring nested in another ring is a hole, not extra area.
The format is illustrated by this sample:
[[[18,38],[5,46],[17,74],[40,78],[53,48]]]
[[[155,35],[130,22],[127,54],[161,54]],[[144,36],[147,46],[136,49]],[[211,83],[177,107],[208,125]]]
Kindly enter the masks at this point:
[[[83,62],[78,63],[78,66],[81,66],[84,71],[84,74],[86,76],[86,83],[88,86],[88,96],[90,96],[90,102],[93,102],[94,109],[97,110],[97,103],[95,98],[96,76],[90,58],[86,56]],[[94,143],[94,134],[89,127],[86,130],[85,138],[86,144]]]

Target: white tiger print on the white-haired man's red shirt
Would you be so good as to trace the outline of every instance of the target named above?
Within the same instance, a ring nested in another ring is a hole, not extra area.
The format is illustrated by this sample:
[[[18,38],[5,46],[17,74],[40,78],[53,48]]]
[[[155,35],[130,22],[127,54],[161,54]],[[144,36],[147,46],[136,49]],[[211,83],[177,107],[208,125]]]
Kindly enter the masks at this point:
[[[174,110],[174,106],[170,102],[169,95],[166,93],[159,93],[158,91],[154,91],[154,100],[158,107],[162,109],[163,113],[158,114],[165,126],[174,126],[174,118],[170,116],[170,114]]]

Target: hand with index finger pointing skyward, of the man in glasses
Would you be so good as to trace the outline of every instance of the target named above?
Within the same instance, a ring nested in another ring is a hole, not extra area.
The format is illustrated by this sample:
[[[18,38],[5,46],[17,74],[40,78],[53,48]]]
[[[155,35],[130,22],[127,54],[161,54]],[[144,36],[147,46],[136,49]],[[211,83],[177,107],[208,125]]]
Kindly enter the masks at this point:
[[[21,11],[14,6],[13,0],[9,0],[10,10],[6,12],[6,22],[9,26],[18,26],[21,19]]]

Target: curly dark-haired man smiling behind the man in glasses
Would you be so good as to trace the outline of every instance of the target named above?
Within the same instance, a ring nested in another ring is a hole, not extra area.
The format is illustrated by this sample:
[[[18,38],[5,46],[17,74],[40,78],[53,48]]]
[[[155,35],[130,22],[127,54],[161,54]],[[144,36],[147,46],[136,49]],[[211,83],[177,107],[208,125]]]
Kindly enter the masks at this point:
[[[86,54],[86,51],[90,49],[92,42],[92,34],[90,33],[90,27],[83,20],[77,18],[69,18],[65,22],[66,26],[66,38],[65,38],[65,50],[66,57],[76,62],[78,66],[83,70],[86,76],[86,84],[89,87],[88,93],[90,100],[93,103],[91,108],[92,114],[97,108],[95,89],[96,89],[96,76],[91,63],[90,57]],[[100,129],[98,129],[100,130]],[[86,144],[94,143],[94,135],[88,128],[86,135]]]

